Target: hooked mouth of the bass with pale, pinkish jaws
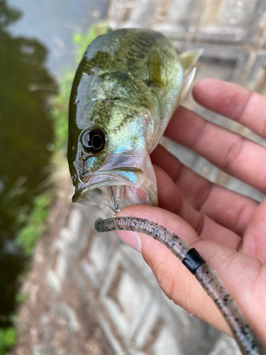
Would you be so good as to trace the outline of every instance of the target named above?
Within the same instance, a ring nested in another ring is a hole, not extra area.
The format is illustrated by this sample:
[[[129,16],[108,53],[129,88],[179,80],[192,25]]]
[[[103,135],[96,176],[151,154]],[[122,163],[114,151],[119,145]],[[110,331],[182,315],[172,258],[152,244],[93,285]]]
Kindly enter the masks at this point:
[[[157,182],[149,155],[145,155],[140,167],[101,168],[94,173],[82,173],[72,202],[115,209],[110,186],[119,209],[130,204],[157,206]]]

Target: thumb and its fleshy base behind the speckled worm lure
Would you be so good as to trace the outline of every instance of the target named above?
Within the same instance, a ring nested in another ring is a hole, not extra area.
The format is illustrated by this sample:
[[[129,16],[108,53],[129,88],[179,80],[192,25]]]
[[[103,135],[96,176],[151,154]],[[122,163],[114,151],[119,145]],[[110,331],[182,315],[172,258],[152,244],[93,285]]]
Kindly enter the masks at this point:
[[[165,226],[187,241],[190,246],[196,248],[206,263],[216,271],[250,325],[266,343],[266,313],[261,311],[266,307],[266,298],[261,297],[265,295],[265,280],[260,273],[261,263],[259,261],[218,246],[211,241],[199,239],[187,222],[158,207],[131,205],[123,210],[128,214],[150,219]],[[190,314],[196,315],[228,334],[228,327],[214,302],[204,293],[194,276],[165,246],[148,236],[139,235],[143,258],[152,269],[167,297]]]

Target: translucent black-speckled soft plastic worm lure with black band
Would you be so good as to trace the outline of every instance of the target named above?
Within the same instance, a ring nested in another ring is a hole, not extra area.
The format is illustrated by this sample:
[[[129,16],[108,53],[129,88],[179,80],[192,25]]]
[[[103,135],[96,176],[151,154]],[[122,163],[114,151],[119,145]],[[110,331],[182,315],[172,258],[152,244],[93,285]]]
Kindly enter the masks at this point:
[[[122,212],[123,213],[123,212]],[[196,249],[160,224],[137,217],[113,217],[96,221],[96,231],[138,231],[160,241],[195,275],[196,280],[214,300],[235,337],[243,355],[266,355],[265,347],[250,328],[235,301]]]

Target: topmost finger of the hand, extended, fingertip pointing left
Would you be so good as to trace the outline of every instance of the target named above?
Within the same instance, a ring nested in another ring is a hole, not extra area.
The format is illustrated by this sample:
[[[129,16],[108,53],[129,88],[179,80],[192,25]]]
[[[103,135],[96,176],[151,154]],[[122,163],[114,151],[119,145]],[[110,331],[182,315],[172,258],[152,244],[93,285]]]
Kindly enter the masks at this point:
[[[222,82],[204,79],[193,89],[196,102],[212,111],[227,116],[266,138],[266,97],[248,89]]]

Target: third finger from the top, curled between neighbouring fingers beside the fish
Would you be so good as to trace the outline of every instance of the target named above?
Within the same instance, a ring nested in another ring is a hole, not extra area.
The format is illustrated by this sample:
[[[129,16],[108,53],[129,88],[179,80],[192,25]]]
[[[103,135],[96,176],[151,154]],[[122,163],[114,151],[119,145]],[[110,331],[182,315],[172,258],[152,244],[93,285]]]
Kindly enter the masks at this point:
[[[194,173],[162,146],[150,155],[153,164],[165,170],[177,185],[182,197],[194,209],[214,219],[218,224],[242,236],[258,203],[215,185]]]

